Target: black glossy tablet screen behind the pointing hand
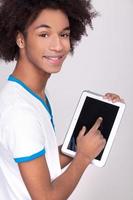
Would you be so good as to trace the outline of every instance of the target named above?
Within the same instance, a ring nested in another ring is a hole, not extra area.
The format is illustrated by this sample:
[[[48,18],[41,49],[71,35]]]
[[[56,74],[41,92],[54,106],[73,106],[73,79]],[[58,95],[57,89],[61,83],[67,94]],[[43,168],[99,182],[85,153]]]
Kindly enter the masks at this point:
[[[98,117],[103,118],[103,122],[99,129],[107,141],[118,110],[119,107],[116,105],[102,102],[91,97],[86,97],[81,113],[77,120],[74,132],[68,144],[68,149],[76,151],[76,138],[79,134],[79,131],[83,126],[86,126],[87,130],[90,130],[90,128],[94,125]],[[103,151],[96,157],[96,159],[100,160],[102,154]]]

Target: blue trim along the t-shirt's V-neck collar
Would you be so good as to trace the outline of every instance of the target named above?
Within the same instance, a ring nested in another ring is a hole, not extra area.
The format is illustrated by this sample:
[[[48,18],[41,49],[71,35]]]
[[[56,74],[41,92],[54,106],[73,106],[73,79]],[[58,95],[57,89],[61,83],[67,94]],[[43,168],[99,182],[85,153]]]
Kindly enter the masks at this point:
[[[49,103],[49,100],[46,97],[46,101],[47,103],[39,96],[37,95],[35,92],[33,92],[27,85],[25,85],[25,83],[23,83],[21,80],[17,79],[16,77],[14,77],[13,75],[10,75],[8,77],[8,81],[13,81],[13,82],[16,82],[18,83],[19,85],[21,85],[26,91],[28,91],[31,95],[33,95],[36,99],[38,99],[42,104],[43,106],[45,107],[45,109],[48,111],[48,113],[50,114],[50,117],[51,117],[51,123],[52,123],[52,126],[53,128],[55,127],[54,126],[54,122],[53,122],[53,115],[52,115],[52,109],[51,109],[51,106],[50,106],[50,103]]]

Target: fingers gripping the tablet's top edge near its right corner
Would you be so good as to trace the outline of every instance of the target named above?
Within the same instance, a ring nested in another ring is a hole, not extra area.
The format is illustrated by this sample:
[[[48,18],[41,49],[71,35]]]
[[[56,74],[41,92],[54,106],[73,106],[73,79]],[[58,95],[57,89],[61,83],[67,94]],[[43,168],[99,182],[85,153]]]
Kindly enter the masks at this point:
[[[103,98],[104,99],[108,99],[109,101],[112,101],[113,103],[116,103],[116,102],[122,102],[122,103],[124,103],[124,100],[121,99],[119,95],[114,94],[114,93],[106,93],[103,96]]]

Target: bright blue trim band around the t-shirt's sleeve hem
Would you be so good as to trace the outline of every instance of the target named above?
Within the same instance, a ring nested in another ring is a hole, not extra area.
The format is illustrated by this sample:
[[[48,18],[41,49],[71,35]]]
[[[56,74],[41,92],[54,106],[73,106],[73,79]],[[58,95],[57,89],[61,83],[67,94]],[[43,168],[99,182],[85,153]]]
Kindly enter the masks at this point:
[[[31,156],[27,156],[27,157],[21,157],[21,158],[14,158],[14,160],[17,162],[17,163],[21,163],[21,162],[28,162],[28,161],[32,161],[36,158],[39,158],[43,155],[45,155],[46,151],[45,149],[43,149],[42,151],[39,151],[38,153],[35,153]]]

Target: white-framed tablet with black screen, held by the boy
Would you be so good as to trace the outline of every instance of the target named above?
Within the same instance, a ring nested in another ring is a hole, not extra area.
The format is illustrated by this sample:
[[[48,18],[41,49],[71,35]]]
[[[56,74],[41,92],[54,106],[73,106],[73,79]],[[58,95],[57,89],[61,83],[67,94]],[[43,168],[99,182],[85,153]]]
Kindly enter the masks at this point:
[[[109,155],[124,109],[124,103],[112,103],[104,99],[102,95],[83,91],[62,145],[62,152],[74,157],[76,155],[76,138],[81,128],[86,126],[87,130],[90,130],[97,118],[102,117],[103,121],[100,130],[106,139],[106,145],[92,163],[98,167],[103,167]]]

